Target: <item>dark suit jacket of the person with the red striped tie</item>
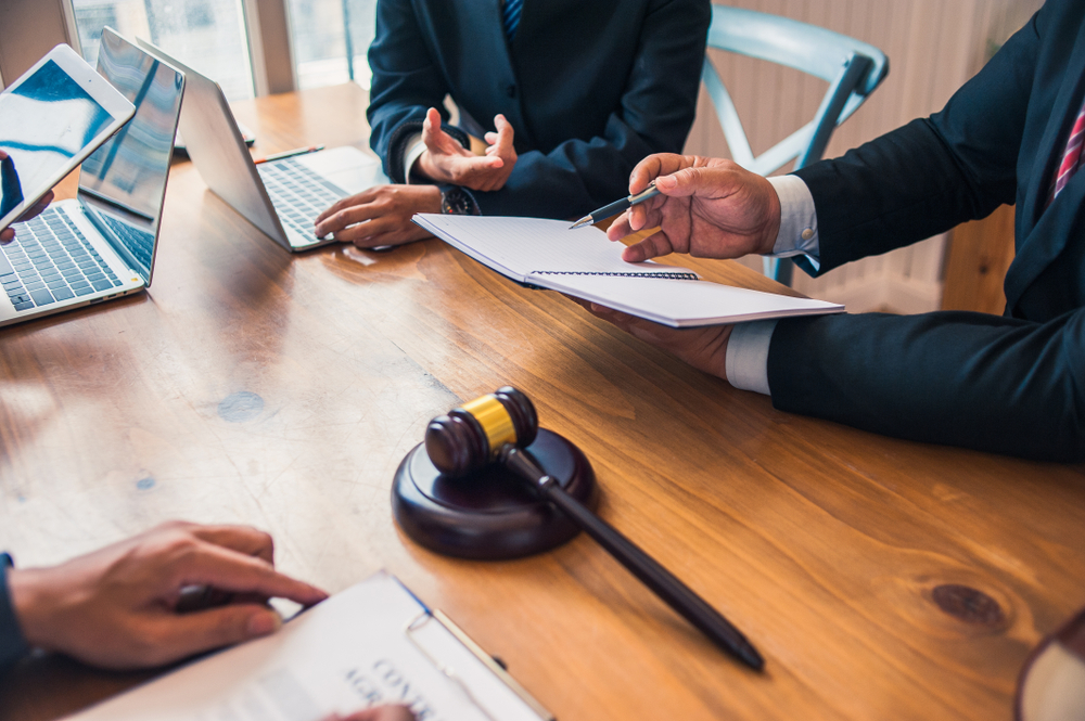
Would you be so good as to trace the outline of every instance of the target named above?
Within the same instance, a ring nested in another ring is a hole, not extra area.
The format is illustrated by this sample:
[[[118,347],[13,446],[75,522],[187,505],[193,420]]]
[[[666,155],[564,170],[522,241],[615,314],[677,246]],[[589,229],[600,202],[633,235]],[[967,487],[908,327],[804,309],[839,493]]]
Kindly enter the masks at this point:
[[[1085,170],[1045,208],[1085,95],[1085,3],[1050,0],[939,114],[799,175],[821,271],[1017,204],[1004,317],[781,321],[773,402],[878,433],[1085,460]]]

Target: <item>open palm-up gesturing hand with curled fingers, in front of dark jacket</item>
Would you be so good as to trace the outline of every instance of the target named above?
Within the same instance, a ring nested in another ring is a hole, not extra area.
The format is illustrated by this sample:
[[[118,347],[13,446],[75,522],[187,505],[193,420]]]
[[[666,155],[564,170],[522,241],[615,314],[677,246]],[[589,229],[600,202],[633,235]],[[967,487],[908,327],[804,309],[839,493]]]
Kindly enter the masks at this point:
[[[416,164],[418,171],[438,183],[452,183],[471,190],[492,191],[505,188],[516,151],[512,147],[512,126],[503,115],[494,117],[497,132],[487,132],[485,155],[475,155],[460,145],[441,127],[441,114],[431,107],[422,123],[425,151]]]

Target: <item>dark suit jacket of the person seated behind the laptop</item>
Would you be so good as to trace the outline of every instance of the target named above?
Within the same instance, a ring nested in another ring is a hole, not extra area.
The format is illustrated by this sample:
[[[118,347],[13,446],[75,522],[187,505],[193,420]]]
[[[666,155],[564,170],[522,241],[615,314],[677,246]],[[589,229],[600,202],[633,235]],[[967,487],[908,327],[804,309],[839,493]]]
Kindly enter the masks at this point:
[[[520,158],[485,215],[572,218],[628,194],[693,123],[709,0],[526,0],[510,44],[499,0],[380,0],[370,143],[394,182],[427,107],[448,93],[477,123],[512,124]]]

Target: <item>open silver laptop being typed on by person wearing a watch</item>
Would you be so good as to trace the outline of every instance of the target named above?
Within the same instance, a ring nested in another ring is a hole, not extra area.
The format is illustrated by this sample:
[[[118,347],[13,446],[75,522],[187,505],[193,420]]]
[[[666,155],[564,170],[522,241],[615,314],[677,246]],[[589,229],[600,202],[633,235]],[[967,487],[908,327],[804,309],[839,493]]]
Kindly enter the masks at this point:
[[[221,88],[159,48],[140,47],[184,73],[181,136],[207,186],[265,235],[291,252],[334,243],[317,237],[314,221],[336,201],[391,182],[375,157],[333,147],[256,165]]]

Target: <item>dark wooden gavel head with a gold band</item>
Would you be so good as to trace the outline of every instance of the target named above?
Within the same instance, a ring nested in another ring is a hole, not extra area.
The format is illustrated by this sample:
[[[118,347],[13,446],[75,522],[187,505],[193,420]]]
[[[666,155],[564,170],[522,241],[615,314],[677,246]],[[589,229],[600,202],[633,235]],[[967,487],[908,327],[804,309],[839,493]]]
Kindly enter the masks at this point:
[[[425,452],[437,471],[458,478],[492,462],[506,443],[529,446],[538,429],[531,399],[505,386],[430,421]]]

